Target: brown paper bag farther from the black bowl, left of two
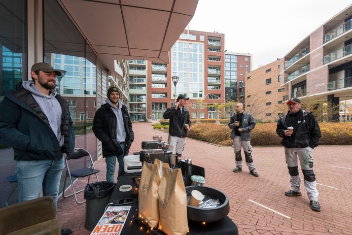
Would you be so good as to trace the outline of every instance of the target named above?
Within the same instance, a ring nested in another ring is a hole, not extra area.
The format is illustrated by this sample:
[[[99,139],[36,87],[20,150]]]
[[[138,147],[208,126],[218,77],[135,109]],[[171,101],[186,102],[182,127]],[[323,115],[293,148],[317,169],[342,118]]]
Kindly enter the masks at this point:
[[[138,189],[138,214],[139,218],[143,217],[143,221],[152,228],[158,226],[159,223],[159,184],[158,165],[145,161]]]

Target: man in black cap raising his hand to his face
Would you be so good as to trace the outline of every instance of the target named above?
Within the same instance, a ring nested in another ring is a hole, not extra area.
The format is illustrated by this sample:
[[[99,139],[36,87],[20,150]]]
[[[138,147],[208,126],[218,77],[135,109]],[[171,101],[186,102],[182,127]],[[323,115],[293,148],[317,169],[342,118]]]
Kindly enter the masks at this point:
[[[191,126],[190,114],[185,108],[188,99],[189,97],[180,94],[175,106],[168,108],[163,115],[165,119],[170,119],[168,143],[170,150],[178,159],[181,158],[186,146],[187,131]]]

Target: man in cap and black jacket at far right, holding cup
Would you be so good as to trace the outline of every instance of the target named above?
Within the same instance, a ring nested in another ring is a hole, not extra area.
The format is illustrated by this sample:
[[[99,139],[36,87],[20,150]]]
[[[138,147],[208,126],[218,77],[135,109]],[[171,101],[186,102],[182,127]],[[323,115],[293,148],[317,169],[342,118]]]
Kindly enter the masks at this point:
[[[319,192],[316,189],[313,172],[313,148],[319,145],[321,132],[314,115],[301,109],[301,100],[291,98],[287,103],[289,111],[280,116],[277,122],[276,133],[283,140],[286,163],[289,169],[291,190],[286,196],[301,196],[301,178],[298,172],[298,159],[304,175],[304,186],[310,200],[310,208],[320,211],[318,202]]]

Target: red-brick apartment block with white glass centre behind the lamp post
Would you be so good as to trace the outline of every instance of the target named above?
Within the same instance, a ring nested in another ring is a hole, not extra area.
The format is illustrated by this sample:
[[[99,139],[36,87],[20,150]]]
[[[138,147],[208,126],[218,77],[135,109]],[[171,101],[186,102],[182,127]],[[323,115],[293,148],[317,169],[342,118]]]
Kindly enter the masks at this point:
[[[169,52],[169,64],[148,61],[149,120],[161,119],[179,94],[190,97],[191,118],[196,118],[194,102],[199,99],[203,100],[200,117],[216,118],[215,107],[209,104],[225,101],[224,38],[223,33],[184,30]],[[179,77],[176,86],[173,76]]]

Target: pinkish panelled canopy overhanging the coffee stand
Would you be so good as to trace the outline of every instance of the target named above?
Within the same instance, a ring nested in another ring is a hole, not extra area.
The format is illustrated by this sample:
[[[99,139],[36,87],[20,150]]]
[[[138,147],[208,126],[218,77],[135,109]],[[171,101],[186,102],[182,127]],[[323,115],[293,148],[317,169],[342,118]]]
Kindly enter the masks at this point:
[[[116,59],[168,63],[168,51],[192,19],[198,0],[61,0],[66,12],[114,71]]]

